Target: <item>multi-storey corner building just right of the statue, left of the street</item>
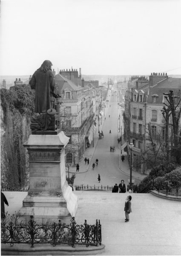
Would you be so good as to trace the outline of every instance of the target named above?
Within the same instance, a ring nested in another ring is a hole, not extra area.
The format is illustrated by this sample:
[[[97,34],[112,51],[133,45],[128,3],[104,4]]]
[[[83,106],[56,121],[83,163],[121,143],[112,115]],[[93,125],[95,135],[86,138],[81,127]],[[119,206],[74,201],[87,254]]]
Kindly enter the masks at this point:
[[[65,160],[71,166],[80,162],[89,147],[97,118],[96,97],[99,89],[93,84],[85,86],[81,70],[79,72],[72,69],[54,74],[55,87],[61,96],[55,107],[59,113],[60,129],[70,138],[65,148]]]

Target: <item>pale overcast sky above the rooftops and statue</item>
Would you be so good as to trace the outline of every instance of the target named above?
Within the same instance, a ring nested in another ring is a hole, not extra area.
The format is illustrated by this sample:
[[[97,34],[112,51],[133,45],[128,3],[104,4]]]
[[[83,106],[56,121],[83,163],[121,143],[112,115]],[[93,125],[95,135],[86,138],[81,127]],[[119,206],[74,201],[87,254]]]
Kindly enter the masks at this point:
[[[181,74],[181,0],[1,0],[1,75]],[[169,71],[170,70],[170,71]]]

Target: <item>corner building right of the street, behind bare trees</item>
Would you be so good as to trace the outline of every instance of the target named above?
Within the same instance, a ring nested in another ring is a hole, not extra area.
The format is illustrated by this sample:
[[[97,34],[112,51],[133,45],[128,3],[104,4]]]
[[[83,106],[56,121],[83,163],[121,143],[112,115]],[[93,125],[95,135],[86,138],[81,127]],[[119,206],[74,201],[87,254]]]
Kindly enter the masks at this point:
[[[172,122],[171,116],[167,122],[163,116],[164,104],[168,103],[168,97],[164,93],[169,93],[172,89],[179,99],[181,79],[170,78],[167,73],[152,73],[149,80],[142,76],[141,79],[136,77],[133,81],[134,79],[129,82],[125,95],[124,136],[127,148],[130,142],[134,144],[133,169],[145,173],[149,166],[144,159],[153,157],[153,145],[155,150],[162,146],[164,152],[167,128],[167,138],[172,141],[172,127],[167,125]]]

